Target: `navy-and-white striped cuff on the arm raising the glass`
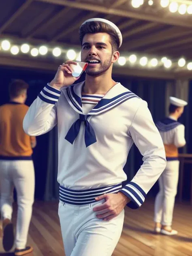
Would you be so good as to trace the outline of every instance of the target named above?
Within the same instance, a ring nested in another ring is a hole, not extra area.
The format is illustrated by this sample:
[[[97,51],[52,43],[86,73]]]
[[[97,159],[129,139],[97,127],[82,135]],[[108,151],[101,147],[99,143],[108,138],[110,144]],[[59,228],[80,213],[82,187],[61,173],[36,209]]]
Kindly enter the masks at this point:
[[[61,95],[61,91],[49,86],[49,84],[47,84],[43,90],[41,91],[41,93],[39,93],[38,97],[49,103],[49,104],[55,104],[56,102],[58,102],[59,100],[59,96]]]

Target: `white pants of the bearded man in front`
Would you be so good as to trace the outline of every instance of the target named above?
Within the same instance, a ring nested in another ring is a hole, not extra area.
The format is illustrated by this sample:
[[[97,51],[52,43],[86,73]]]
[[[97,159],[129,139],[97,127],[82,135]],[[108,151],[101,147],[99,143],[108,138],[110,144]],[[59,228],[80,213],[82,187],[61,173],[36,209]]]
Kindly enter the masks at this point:
[[[111,256],[122,233],[124,210],[111,221],[96,217],[93,208],[59,203],[59,217],[66,256]]]

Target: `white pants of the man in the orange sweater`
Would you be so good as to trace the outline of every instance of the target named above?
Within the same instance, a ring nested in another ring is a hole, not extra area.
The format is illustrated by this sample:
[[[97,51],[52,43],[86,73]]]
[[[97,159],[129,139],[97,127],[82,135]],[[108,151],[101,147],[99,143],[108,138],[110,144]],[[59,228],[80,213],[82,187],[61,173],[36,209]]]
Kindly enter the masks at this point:
[[[0,160],[1,217],[11,219],[13,189],[17,191],[17,248],[25,248],[34,202],[34,165],[32,160]]]

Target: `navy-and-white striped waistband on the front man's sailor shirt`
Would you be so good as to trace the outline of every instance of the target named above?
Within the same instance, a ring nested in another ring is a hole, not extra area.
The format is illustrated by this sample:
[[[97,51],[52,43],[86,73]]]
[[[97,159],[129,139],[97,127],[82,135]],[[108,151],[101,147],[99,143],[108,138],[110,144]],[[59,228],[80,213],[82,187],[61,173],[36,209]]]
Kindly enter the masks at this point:
[[[61,202],[73,205],[85,205],[96,202],[95,197],[108,193],[117,193],[122,184],[100,187],[97,189],[72,190],[59,186],[59,199]]]

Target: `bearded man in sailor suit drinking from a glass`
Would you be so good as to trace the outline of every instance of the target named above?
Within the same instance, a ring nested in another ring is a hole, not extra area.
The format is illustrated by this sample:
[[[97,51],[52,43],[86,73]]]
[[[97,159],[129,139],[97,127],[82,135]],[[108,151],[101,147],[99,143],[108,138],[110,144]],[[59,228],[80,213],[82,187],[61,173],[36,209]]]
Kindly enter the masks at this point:
[[[53,80],[30,106],[23,121],[29,135],[58,126],[58,214],[66,256],[111,256],[122,232],[124,207],[139,208],[166,166],[162,139],[147,103],[115,82],[120,30],[94,18],[80,27],[84,82],[72,85],[71,64],[60,65]],[[135,143],[143,165],[132,181],[123,167]]]

